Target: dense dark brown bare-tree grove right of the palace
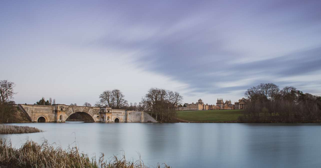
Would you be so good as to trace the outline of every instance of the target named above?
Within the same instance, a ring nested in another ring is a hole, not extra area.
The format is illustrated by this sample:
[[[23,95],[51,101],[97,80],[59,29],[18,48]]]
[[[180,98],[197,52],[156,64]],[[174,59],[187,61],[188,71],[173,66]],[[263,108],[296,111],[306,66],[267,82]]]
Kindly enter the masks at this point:
[[[293,86],[272,83],[247,89],[247,110],[240,122],[314,123],[321,121],[321,97],[303,93]]]

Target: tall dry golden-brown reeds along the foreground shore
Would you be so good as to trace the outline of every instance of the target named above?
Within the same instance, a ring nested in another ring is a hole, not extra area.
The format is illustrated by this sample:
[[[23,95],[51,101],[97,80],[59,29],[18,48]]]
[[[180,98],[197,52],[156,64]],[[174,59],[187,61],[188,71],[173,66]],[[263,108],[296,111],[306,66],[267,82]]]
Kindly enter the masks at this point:
[[[163,164],[165,168],[170,168]],[[91,159],[77,147],[69,147],[63,150],[61,147],[53,147],[47,141],[42,144],[27,141],[21,148],[13,148],[0,139],[0,167],[7,168],[146,168],[142,160],[126,161],[125,155],[121,158],[113,156],[109,162],[104,160],[104,154]],[[156,166],[160,168],[160,164]]]

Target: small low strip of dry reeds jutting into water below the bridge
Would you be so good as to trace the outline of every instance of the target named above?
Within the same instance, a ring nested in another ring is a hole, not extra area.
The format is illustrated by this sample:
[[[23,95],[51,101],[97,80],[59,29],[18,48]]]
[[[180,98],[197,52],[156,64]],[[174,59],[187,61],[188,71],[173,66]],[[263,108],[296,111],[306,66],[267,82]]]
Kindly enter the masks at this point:
[[[0,124],[0,134],[22,134],[22,133],[33,133],[33,132],[43,132],[43,131],[38,128],[28,127],[28,126]]]

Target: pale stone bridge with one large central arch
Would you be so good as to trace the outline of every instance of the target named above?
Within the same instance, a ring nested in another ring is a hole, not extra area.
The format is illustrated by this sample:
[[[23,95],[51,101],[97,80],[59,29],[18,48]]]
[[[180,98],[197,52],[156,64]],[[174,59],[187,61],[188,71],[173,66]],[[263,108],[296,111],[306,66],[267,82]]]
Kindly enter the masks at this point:
[[[32,122],[157,122],[144,111],[115,110],[110,107],[68,106],[65,104],[31,105],[18,104]]]

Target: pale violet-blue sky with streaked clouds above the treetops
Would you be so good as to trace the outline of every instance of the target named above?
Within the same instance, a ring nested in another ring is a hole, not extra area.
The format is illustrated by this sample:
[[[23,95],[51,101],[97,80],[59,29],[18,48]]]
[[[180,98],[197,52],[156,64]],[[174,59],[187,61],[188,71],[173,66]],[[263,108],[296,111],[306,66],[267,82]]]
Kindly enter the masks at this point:
[[[260,83],[321,95],[321,1],[0,1],[14,101],[94,104],[119,89],[238,101]]]

